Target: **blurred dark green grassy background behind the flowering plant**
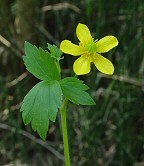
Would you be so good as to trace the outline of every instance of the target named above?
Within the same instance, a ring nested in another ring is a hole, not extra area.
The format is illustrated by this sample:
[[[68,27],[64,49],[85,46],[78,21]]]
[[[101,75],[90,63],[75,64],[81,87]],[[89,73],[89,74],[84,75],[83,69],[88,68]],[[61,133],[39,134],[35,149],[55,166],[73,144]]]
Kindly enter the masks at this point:
[[[144,1],[0,0],[0,166],[64,166],[60,117],[43,142],[19,112],[26,93],[39,82],[26,71],[27,40],[46,49],[64,39],[78,43],[75,29],[86,24],[95,39],[114,35],[118,47],[103,54],[113,76],[79,77],[97,105],[69,103],[68,129],[73,166],[144,166]],[[65,55],[63,77],[75,58]],[[94,66],[94,65],[93,65]]]

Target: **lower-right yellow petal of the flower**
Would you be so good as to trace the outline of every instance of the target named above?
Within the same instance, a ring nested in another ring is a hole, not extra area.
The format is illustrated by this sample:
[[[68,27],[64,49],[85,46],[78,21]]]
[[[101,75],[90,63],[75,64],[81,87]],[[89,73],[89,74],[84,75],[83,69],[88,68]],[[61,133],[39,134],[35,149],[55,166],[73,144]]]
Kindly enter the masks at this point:
[[[96,68],[104,74],[113,74],[114,66],[108,59],[96,54],[94,57],[94,64]]]

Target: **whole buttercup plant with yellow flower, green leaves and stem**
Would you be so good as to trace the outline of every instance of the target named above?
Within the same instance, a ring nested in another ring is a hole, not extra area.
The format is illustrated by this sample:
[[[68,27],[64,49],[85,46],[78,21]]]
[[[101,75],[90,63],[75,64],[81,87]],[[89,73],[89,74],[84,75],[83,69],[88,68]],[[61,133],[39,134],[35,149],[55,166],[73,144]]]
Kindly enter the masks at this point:
[[[61,78],[59,61],[63,59],[62,54],[64,52],[74,56],[81,55],[73,66],[76,75],[88,74],[92,62],[102,73],[113,74],[113,64],[100,53],[118,45],[118,40],[114,36],[94,40],[84,24],[78,24],[76,34],[80,40],[79,45],[64,40],[60,44],[60,49],[48,44],[48,51],[25,42],[23,57],[27,70],[41,80],[28,92],[22,102],[20,111],[23,121],[25,125],[31,123],[32,129],[45,140],[49,121],[55,122],[60,110],[66,166],[70,166],[66,122],[68,101],[77,105],[95,105],[95,101],[86,92],[89,87],[83,81],[76,77]]]

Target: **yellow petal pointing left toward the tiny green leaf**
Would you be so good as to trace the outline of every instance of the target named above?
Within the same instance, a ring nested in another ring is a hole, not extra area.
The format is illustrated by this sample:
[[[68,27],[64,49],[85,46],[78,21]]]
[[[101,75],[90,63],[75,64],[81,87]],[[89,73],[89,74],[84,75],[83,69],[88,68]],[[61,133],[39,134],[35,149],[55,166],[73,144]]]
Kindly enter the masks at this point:
[[[82,46],[78,46],[76,44],[73,44],[69,40],[64,40],[60,44],[60,49],[66,53],[66,54],[71,54],[74,56],[81,55],[85,52],[85,49]]]

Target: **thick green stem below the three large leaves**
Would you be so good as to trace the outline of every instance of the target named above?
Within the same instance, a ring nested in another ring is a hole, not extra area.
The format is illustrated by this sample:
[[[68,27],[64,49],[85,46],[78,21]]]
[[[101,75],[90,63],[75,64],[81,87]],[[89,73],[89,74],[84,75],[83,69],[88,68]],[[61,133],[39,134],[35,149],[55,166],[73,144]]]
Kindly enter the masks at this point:
[[[65,156],[65,166],[70,166],[70,155],[69,155],[69,144],[68,144],[68,133],[67,133],[67,122],[66,122],[66,107],[68,100],[64,99],[61,113],[61,123],[62,123],[62,134],[64,143],[64,156]]]

